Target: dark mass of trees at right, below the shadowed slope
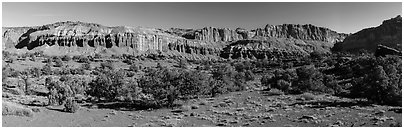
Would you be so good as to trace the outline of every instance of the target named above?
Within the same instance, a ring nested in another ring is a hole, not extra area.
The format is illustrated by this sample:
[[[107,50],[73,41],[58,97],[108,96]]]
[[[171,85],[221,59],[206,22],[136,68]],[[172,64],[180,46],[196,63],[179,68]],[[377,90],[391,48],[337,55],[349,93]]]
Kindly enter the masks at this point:
[[[361,54],[350,57],[313,55],[311,65],[268,71],[261,84],[285,93],[328,93],[401,105],[401,58]]]

